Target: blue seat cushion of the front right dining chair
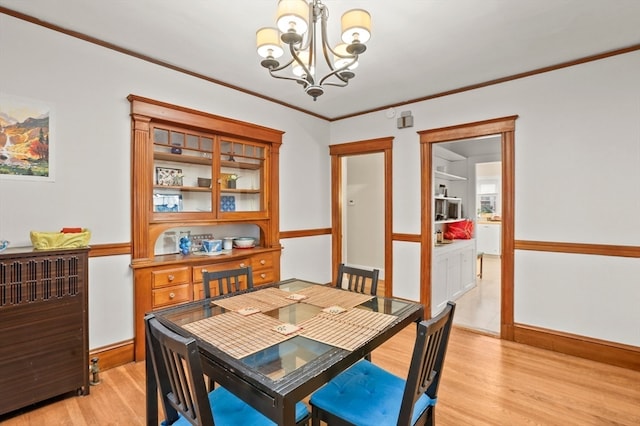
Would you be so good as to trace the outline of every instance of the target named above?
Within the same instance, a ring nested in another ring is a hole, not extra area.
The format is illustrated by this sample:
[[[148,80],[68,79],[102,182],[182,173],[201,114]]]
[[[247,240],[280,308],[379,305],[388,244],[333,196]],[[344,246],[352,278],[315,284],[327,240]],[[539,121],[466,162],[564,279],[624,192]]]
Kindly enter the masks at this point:
[[[405,380],[360,360],[311,396],[311,404],[358,426],[396,425]],[[433,405],[426,394],[415,403],[411,424]]]

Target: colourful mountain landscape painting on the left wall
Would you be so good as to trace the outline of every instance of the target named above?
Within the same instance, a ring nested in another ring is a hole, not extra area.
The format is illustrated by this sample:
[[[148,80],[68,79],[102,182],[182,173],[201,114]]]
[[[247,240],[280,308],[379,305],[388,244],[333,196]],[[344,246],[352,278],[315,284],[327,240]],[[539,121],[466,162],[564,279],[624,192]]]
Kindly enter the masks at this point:
[[[0,95],[0,179],[50,180],[49,113],[44,103]]]

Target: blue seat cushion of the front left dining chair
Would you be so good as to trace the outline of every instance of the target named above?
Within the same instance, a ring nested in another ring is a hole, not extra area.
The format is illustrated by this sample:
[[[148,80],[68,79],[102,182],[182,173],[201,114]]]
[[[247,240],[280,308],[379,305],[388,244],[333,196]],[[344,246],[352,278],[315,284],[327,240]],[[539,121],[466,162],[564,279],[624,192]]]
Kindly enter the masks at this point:
[[[209,392],[209,404],[214,407],[213,421],[216,425],[236,426],[272,426],[274,422],[263,416],[259,411],[246,404],[240,398],[229,392],[223,387],[218,387],[214,391]],[[296,404],[296,423],[309,415],[307,406],[298,402]],[[167,425],[162,422],[163,426]],[[191,423],[184,417],[173,423],[173,426],[191,426]]]

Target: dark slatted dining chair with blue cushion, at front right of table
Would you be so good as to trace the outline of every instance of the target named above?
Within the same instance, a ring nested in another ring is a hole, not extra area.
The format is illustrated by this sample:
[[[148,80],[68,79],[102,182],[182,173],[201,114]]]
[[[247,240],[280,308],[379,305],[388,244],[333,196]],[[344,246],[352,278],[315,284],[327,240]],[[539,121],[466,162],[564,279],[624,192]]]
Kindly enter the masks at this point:
[[[433,425],[455,303],[418,324],[406,379],[360,360],[311,395],[311,424]]]

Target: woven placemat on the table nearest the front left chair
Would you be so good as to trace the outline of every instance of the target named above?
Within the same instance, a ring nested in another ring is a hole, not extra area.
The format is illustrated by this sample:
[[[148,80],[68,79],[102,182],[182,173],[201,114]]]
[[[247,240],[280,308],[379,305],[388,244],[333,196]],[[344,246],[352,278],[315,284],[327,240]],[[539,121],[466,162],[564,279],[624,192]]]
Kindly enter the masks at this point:
[[[273,328],[279,325],[282,322],[261,313],[243,316],[225,312],[183,327],[232,357],[244,358],[298,334],[284,335],[274,331]]]

